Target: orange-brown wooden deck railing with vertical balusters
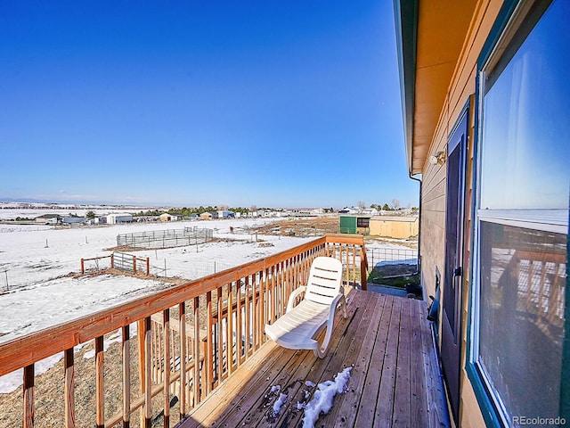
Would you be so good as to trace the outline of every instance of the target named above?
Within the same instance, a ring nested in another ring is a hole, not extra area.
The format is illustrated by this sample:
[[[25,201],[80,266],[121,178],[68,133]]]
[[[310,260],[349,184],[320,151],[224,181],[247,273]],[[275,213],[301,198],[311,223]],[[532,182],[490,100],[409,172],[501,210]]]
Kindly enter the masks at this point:
[[[49,415],[50,423],[37,421],[38,426],[150,427],[160,417],[170,426],[171,411],[183,419],[266,341],[264,325],[284,313],[290,292],[304,284],[320,255],[343,262],[346,287],[360,283],[366,288],[362,236],[327,235],[0,344],[0,375],[23,368],[23,426],[34,426],[36,402],[42,399],[36,397],[35,365],[60,352],[64,410],[44,410],[56,414]],[[117,330],[120,348],[106,351],[105,337]],[[90,373],[79,373],[74,363],[75,349],[84,343],[94,343]],[[108,371],[119,373],[118,381],[110,384]],[[78,388],[78,383],[90,387]],[[111,399],[110,391],[118,398]],[[90,408],[77,412],[77,407]]]

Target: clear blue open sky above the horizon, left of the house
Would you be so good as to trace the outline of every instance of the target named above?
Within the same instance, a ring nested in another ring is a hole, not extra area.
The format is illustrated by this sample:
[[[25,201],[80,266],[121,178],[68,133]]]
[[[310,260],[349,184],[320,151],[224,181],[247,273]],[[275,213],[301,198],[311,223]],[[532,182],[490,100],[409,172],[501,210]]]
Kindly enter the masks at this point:
[[[418,204],[391,0],[0,0],[0,200]]]

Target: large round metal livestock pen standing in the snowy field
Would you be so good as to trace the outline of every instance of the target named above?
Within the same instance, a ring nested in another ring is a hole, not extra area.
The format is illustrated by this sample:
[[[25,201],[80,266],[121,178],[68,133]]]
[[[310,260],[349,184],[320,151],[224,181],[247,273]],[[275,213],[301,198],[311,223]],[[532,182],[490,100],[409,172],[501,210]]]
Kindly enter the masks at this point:
[[[183,229],[165,229],[134,234],[117,235],[117,246],[132,249],[155,249],[182,247],[208,243],[214,237],[214,229],[184,227]]]

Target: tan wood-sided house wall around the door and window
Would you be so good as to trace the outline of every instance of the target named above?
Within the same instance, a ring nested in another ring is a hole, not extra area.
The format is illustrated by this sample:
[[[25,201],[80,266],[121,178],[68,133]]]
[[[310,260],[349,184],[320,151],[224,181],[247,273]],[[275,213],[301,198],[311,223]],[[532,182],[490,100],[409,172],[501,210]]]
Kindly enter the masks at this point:
[[[472,243],[471,210],[473,194],[473,136],[474,136],[474,94],[476,92],[476,61],[481,53],[485,39],[501,9],[502,1],[482,0],[476,5],[473,19],[468,29],[459,60],[456,64],[451,84],[445,96],[444,105],[433,136],[429,154],[447,152],[447,139],[452,133],[452,127],[460,118],[466,103],[470,103],[469,136],[468,136],[468,166],[466,180],[466,218],[464,244],[464,272],[471,268],[470,248]],[[426,294],[434,295],[436,289],[436,268],[444,273],[444,239],[445,239],[445,192],[446,164],[431,165],[427,161],[423,167],[423,188],[421,195],[421,257],[422,284]],[[443,279],[443,278],[442,278]],[[463,306],[462,306],[462,354],[461,366],[465,367],[467,349],[467,322],[469,276],[464,276]],[[442,285],[444,286],[444,285]],[[443,293],[442,293],[443,295]],[[441,313],[440,313],[441,316]],[[441,325],[441,323],[440,323]],[[441,337],[441,332],[439,337]],[[460,380],[460,426],[485,426],[476,396],[468,380],[465,369],[462,369]]]

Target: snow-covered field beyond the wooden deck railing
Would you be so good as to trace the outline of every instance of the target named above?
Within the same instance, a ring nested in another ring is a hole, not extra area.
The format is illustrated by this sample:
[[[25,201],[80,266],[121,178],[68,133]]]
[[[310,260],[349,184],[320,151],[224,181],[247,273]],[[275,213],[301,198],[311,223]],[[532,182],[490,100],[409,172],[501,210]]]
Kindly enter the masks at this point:
[[[7,210],[2,211],[5,215]],[[252,227],[273,221],[256,218],[69,228],[0,225],[0,343],[172,286],[131,276],[77,276],[80,259],[109,256],[112,251],[108,249],[116,246],[118,234],[184,226],[214,229],[217,239],[210,243],[132,252],[142,259],[149,257],[151,268],[166,267],[168,277],[190,280],[314,239],[251,232]],[[230,233],[231,226],[234,233]],[[403,248],[391,243],[371,247]],[[102,268],[108,267],[109,261],[106,263]],[[90,268],[87,263],[85,267]],[[38,363],[37,373],[60,358],[57,355]],[[0,393],[13,391],[21,379],[18,372],[0,377]]]

